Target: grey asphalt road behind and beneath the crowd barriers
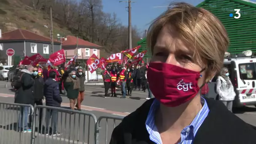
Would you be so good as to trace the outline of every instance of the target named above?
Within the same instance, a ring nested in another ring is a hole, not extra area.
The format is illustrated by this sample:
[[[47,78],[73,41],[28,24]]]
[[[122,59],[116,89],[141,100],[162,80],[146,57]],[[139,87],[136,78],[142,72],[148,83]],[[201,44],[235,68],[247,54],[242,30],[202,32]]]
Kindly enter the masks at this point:
[[[5,88],[0,83],[0,102],[13,102],[14,92],[9,88]],[[117,91],[118,97],[121,96],[121,92]],[[104,88],[101,86],[86,85],[85,87],[85,99],[83,101],[82,112],[77,111],[74,115],[70,115],[69,112],[69,99],[66,96],[62,96],[63,103],[61,105],[63,109],[59,112],[58,117],[58,131],[62,133],[61,136],[46,136],[44,134],[45,128],[38,131],[38,114],[36,118],[36,133],[35,133],[35,144],[93,144],[94,139],[94,122],[91,117],[84,115],[92,113],[98,119],[100,116],[116,116],[121,117],[128,115],[129,113],[136,110],[141,104],[146,101],[147,91],[133,91],[133,96],[128,99],[120,98],[104,98]],[[31,133],[18,133],[17,127],[17,109],[10,108],[12,106],[3,107],[0,105],[0,144],[30,144]],[[236,115],[243,119],[245,122],[256,126],[256,108],[245,107],[236,111]],[[43,112],[45,117],[45,109]],[[111,136],[111,132],[114,128],[114,121],[108,120],[107,131],[106,131],[106,119],[102,119],[99,130],[99,144],[105,144],[106,134],[107,142]],[[120,120],[115,121],[115,125],[118,125]],[[45,118],[43,118],[43,125],[45,125]],[[89,134],[89,136],[88,136]],[[4,138],[4,139],[2,139]],[[23,138],[23,140],[21,139]],[[89,139],[88,139],[89,138]],[[70,139],[70,141],[69,141]],[[2,141],[3,142],[2,142]],[[11,142],[10,142],[11,141]],[[15,143],[16,142],[16,143]]]

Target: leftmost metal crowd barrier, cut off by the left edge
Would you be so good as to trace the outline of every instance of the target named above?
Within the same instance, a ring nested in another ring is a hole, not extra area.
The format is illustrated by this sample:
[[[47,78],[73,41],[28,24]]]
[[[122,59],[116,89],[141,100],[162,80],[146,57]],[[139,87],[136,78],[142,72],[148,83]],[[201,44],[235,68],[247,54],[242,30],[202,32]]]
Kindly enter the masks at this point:
[[[30,104],[0,102],[0,144],[28,144],[34,108]]]

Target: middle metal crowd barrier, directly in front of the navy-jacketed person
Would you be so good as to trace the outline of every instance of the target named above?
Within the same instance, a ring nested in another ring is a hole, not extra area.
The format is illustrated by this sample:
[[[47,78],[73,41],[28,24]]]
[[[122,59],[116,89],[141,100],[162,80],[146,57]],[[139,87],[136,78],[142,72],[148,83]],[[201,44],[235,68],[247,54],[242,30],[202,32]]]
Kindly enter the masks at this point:
[[[91,113],[59,107],[37,106],[35,114],[37,116],[34,117],[31,144],[95,143],[95,130],[90,126],[95,125],[97,118]]]

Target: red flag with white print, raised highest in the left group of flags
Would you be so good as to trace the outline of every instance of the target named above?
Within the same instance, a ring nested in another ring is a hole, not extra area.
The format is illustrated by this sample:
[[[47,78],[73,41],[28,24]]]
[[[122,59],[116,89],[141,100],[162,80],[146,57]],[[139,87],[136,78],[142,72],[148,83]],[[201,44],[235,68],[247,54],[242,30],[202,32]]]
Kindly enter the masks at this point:
[[[62,49],[51,54],[49,60],[54,66],[58,66],[66,62],[64,50]]]

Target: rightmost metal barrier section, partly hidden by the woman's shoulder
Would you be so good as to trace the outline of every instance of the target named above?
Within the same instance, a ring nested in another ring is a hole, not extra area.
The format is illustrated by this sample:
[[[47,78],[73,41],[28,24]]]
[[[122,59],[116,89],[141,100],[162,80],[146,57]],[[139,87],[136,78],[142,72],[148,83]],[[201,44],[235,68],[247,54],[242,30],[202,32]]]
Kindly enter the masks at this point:
[[[100,125],[101,121],[104,120],[105,121],[105,141],[99,141],[99,139],[101,139],[100,137],[100,130],[102,130],[102,126]],[[110,123],[110,126],[112,126],[112,129],[108,128],[108,122],[109,120],[111,120],[112,123]],[[119,122],[116,124],[116,120],[118,120]],[[112,131],[114,130],[114,128],[116,127],[116,125],[119,125],[119,123],[123,120],[123,117],[121,116],[101,116],[98,118],[97,122],[96,122],[96,131],[95,131],[95,139],[96,139],[96,143],[95,144],[108,144],[108,140],[111,139],[111,134],[108,135],[108,133],[112,133]]]

